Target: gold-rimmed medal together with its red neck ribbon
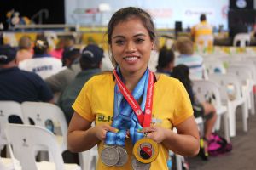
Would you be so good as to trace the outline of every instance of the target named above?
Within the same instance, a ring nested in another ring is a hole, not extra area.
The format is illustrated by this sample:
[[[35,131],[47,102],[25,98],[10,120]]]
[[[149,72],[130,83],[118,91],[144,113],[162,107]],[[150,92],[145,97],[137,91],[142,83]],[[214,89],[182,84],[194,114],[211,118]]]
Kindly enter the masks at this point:
[[[125,85],[119,81],[119,77],[116,77],[117,84],[121,93],[124,95],[127,102],[131,105],[132,110],[137,116],[138,123],[143,127],[149,127],[152,119],[152,105],[153,105],[153,93],[154,93],[154,74],[150,71],[148,78],[147,98],[145,111],[141,110],[141,107],[137,104],[137,101],[132,98],[129,91],[125,88]],[[134,169],[148,169],[150,163],[154,161],[159,154],[159,146],[154,140],[147,138],[147,133],[144,133],[142,139],[138,139],[133,146],[133,160],[132,167]]]

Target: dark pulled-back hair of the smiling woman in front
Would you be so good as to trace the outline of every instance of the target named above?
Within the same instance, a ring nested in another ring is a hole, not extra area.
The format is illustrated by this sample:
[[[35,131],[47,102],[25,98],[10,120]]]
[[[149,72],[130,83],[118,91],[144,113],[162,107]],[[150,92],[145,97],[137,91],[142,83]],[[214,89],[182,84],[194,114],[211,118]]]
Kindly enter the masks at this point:
[[[115,26],[117,26],[120,22],[123,22],[125,20],[130,19],[131,17],[138,18],[142,21],[143,26],[148,30],[148,34],[150,39],[154,42],[156,33],[154,30],[154,22],[146,11],[144,11],[142,8],[136,8],[136,7],[127,7],[127,8],[121,8],[117,12],[113,14],[111,19],[108,22],[108,44],[111,45],[111,37],[113,34],[113,29]],[[116,66],[115,60],[112,58],[112,63],[114,66]]]

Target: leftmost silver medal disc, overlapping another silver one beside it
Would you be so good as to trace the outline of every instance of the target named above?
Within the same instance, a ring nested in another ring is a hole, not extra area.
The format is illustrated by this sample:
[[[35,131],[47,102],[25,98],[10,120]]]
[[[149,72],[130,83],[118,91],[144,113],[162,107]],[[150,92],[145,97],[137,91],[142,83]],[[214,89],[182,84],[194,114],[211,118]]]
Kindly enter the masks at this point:
[[[113,146],[107,146],[102,150],[102,162],[107,166],[114,166],[119,162],[119,151]]]

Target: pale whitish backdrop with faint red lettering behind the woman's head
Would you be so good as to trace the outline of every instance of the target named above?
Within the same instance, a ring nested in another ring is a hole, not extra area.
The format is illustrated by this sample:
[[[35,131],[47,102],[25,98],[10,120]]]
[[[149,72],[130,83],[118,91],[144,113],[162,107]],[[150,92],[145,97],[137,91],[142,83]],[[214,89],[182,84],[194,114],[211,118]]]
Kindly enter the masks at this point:
[[[176,20],[183,21],[183,28],[199,21],[201,13],[213,26],[227,28],[229,0],[65,0],[66,23],[81,25],[107,25],[111,15],[119,8],[135,6],[148,10],[157,27],[173,28]],[[100,3],[108,3],[111,11],[90,14],[88,9],[96,9]]]

